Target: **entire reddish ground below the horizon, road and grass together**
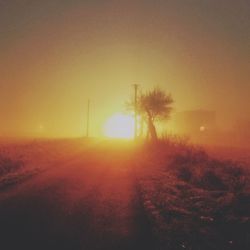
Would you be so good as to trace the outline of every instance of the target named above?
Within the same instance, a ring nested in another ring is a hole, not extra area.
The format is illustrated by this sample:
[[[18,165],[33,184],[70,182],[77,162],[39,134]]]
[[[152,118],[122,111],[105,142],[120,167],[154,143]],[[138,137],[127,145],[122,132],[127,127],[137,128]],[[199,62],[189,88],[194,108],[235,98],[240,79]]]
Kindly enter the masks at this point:
[[[250,247],[247,150],[181,140],[0,147],[3,249]]]

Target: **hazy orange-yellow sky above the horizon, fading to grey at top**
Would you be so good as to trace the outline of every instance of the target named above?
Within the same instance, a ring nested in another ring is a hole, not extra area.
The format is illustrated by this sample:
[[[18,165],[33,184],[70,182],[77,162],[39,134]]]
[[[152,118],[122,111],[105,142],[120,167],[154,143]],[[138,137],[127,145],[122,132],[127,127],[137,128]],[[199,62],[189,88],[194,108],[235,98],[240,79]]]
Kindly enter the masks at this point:
[[[159,86],[174,112],[250,119],[248,0],[0,0],[0,135],[81,136]]]

